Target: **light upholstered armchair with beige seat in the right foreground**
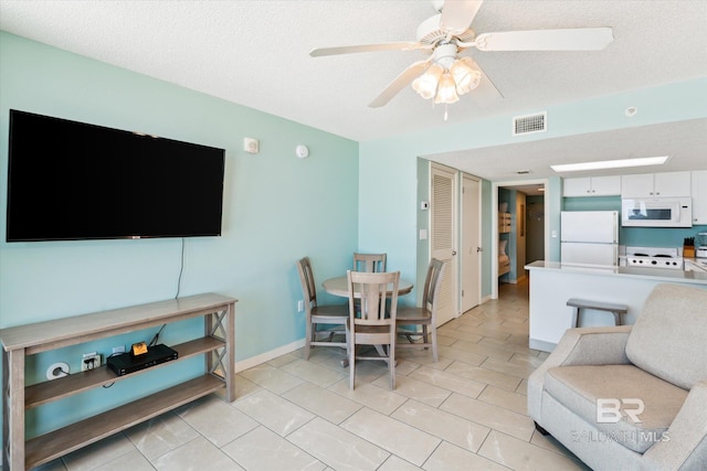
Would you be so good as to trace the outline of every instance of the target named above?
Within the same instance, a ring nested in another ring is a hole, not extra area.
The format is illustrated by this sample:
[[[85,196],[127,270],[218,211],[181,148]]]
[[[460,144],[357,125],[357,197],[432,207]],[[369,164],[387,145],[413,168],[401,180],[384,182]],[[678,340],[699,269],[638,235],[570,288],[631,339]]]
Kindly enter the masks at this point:
[[[707,470],[707,289],[658,285],[634,325],[569,329],[528,414],[594,470]]]

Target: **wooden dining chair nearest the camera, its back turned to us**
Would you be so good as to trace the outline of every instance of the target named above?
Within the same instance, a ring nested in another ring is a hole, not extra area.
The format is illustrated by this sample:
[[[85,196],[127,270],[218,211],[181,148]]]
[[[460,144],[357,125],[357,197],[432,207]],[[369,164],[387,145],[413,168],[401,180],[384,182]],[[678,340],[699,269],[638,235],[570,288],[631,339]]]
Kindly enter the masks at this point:
[[[390,388],[395,388],[395,315],[400,271],[347,271],[349,287],[349,319],[346,324],[349,341],[349,387],[354,389],[356,360],[379,360],[388,363]],[[388,286],[392,285],[389,290]],[[360,310],[354,300],[360,299]],[[390,302],[388,302],[390,301]],[[388,309],[387,309],[388,306]],[[358,345],[376,345],[377,354],[361,351]],[[388,351],[383,349],[388,346]]]

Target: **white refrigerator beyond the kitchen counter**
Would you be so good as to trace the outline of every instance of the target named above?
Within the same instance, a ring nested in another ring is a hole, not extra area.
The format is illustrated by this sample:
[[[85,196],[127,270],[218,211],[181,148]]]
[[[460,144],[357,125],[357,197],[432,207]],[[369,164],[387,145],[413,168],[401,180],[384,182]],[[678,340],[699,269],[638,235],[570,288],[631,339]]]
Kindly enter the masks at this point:
[[[618,211],[562,211],[560,264],[613,268],[619,265]]]

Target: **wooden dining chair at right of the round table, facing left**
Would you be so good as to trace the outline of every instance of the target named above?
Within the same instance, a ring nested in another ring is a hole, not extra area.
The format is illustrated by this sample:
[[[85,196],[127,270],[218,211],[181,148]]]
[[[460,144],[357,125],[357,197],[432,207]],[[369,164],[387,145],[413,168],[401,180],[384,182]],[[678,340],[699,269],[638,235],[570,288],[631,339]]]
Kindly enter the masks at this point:
[[[437,354],[437,306],[440,287],[444,277],[446,264],[433,258],[428,267],[428,276],[424,280],[424,291],[422,291],[422,307],[401,307],[398,310],[395,323],[398,335],[408,339],[408,342],[399,342],[398,347],[420,346],[429,349],[432,346],[432,360],[436,363]],[[413,327],[415,330],[410,330]],[[422,331],[418,331],[421,327]],[[422,342],[416,342],[413,338],[420,338]]]

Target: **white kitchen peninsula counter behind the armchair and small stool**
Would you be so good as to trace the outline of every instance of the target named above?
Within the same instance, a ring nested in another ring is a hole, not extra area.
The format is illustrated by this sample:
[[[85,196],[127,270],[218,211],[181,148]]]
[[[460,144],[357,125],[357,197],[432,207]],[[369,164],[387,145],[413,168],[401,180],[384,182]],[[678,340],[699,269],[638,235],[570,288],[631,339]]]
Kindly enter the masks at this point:
[[[529,346],[551,352],[567,329],[571,327],[571,298],[629,307],[623,317],[633,324],[645,299],[656,285],[672,282],[707,289],[707,271],[683,271],[659,268],[563,267],[558,261],[538,260],[526,265],[530,271]],[[707,308],[706,312],[707,314]],[[610,312],[580,313],[581,327],[613,325]]]

